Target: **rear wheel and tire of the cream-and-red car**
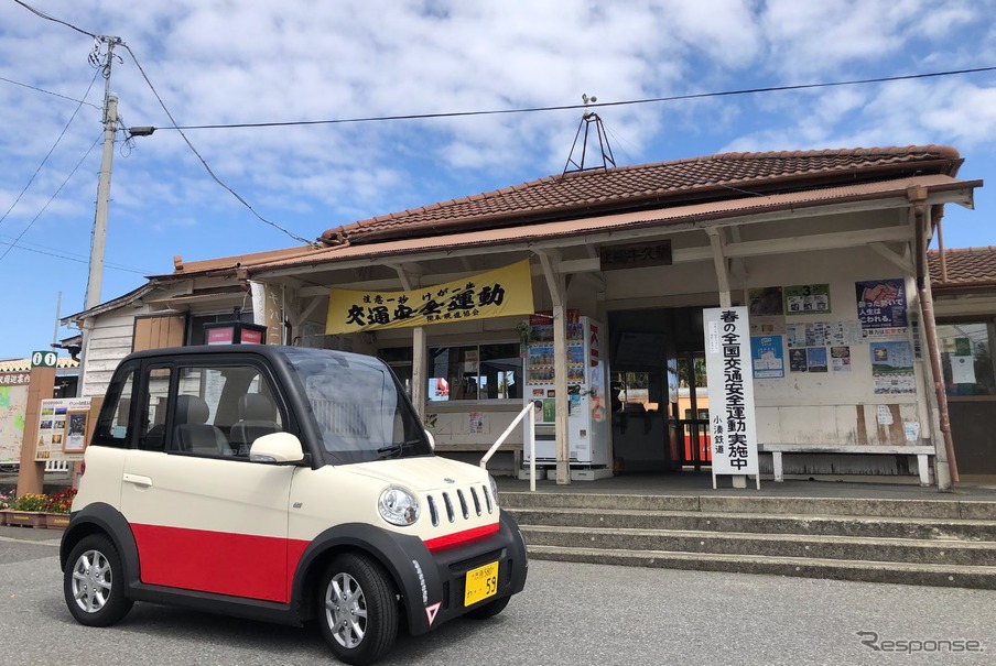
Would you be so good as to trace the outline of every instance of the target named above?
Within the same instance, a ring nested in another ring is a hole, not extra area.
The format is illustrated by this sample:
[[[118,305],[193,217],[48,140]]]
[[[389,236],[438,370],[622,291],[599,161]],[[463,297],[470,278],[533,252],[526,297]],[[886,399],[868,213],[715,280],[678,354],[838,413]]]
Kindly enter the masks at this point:
[[[63,593],[69,613],[87,626],[113,624],[134,603],[124,597],[124,567],[118,550],[102,534],[85,536],[69,552]]]

